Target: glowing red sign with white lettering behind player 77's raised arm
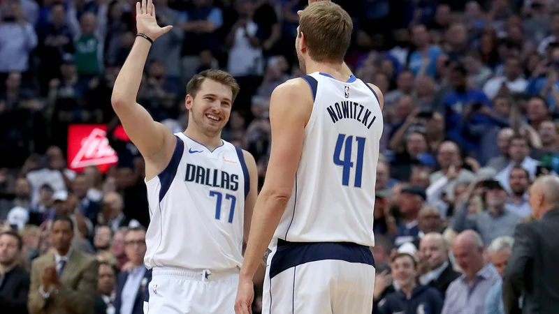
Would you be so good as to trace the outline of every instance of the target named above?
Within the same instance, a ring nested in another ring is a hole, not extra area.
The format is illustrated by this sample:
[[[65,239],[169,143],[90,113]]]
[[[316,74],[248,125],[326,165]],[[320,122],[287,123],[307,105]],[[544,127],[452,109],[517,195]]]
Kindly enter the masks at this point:
[[[72,124],[68,127],[68,168],[81,171],[94,165],[105,173],[118,163],[117,152],[110,147],[105,124]],[[115,136],[129,141],[122,126]]]

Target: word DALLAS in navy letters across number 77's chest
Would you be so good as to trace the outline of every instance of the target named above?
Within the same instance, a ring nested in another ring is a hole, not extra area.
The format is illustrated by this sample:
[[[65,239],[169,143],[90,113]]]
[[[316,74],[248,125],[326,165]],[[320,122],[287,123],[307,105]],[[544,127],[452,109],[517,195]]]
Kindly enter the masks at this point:
[[[238,174],[228,174],[223,170],[210,169],[199,165],[187,164],[187,175],[185,178],[188,182],[196,182],[205,186],[215,188],[225,188],[226,190],[237,190],[239,188]]]

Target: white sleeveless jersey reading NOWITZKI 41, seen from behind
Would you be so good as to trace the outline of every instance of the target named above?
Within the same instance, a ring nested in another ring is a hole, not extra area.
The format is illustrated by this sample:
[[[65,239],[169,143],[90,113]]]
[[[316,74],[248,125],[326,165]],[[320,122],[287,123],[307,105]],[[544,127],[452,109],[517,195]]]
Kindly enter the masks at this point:
[[[274,234],[293,242],[374,246],[372,232],[379,141],[378,96],[365,82],[325,73],[303,77],[314,106],[305,127],[293,192]]]

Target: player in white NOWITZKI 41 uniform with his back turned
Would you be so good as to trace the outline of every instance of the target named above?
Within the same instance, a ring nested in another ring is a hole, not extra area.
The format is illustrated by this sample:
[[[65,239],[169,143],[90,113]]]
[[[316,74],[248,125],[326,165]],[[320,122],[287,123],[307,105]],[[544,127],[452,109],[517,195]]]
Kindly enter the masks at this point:
[[[307,75],[281,84],[270,100],[272,150],[235,313],[250,313],[252,278],[268,244],[262,313],[372,312],[383,96],[343,62],[352,28],[329,1],[300,14],[296,50]]]

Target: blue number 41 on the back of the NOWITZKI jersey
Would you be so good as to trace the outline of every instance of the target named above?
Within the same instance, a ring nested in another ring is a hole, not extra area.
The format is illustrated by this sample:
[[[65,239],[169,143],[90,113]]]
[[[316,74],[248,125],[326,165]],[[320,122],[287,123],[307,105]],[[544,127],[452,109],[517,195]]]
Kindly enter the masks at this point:
[[[361,188],[361,178],[363,177],[363,153],[365,151],[365,137],[355,137],[357,142],[357,160],[355,161],[355,182],[356,188]],[[337,136],[336,147],[334,149],[334,164],[343,168],[342,185],[349,186],[349,171],[354,167],[351,161],[351,145],[354,142],[353,135],[340,134]],[[342,159],[343,152],[343,159]]]

